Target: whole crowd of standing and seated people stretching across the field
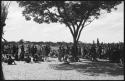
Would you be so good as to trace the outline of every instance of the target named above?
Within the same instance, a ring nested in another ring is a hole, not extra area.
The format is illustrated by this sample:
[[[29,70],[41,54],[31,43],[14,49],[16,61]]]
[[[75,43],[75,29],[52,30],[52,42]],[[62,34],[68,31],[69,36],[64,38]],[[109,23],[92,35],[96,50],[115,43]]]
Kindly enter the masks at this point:
[[[11,54],[16,61],[31,62],[31,57],[34,62],[47,61],[48,56],[57,57],[58,60],[69,62],[72,61],[74,49],[71,45],[60,45],[58,50],[52,50],[50,45],[34,45],[34,44],[11,44],[3,45],[2,54],[4,54],[4,61]],[[77,61],[79,57],[91,59],[97,61],[99,59],[109,59],[111,62],[124,62],[124,45],[121,43],[110,43],[110,44],[83,44],[77,46]],[[12,61],[13,62],[13,61]]]

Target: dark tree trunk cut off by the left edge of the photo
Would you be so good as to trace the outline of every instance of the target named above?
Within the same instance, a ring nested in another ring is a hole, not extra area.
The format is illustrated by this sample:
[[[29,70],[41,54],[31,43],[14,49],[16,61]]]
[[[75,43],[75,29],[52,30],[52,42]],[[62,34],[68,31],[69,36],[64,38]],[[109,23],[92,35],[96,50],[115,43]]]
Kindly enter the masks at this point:
[[[2,53],[1,53],[1,45],[2,45],[2,35],[3,35],[3,27],[6,25],[5,21],[7,19],[7,15],[8,15],[8,8],[9,8],[10,2],[9,1],[1,1],[1,25],[0,25],[0,57],[2,57]],[[4,39],[4,38],[3,38]],[[5,39],[4,39],[5,40]],[[0,64],[2,68],[2,60],[0,59]],[[1,72],[1,79],[4,80],[4,75],[3,75],[3,70],[0,69]]]

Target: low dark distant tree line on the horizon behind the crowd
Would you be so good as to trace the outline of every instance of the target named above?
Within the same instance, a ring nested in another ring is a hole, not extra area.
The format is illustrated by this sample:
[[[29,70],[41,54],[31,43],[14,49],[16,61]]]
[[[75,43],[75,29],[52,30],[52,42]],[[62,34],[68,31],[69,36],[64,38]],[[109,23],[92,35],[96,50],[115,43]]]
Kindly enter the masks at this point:
[[[44,42],[44,41],[40,41],[40,42],[32,42],[32,41],[24,41],[23,39],[21,39],[21,40],[19,40],[19,41],[2,41],[2,44],[22,44],[22,43],[24,43],[24,44],[48,44],[48,45],[50,45],[50,46],[59,46],[59,45],[69,45],[69,46],[71,46],[71,45],[73,45],[73,42],[64,42],[64,41],[62,41],[62,42],[51,42],[51,41],[47,41],[47,42]],[[79,43],[78,43],[78,46],[86,46],[86,45],[92,45],[92,44],[95,44],[95,45],[99,45],[99,44],[103,44],[103,45],[108,45],[108,44],[120,44],[120,45],[124,45],[124,42],[117,42],[117,43],[114,43],[114,42],[112,42],[112,43],[104,43],[104,42],[99,42],[99,39],[97,38],[97,43],[95,43],[94,41],[93,41],[93,43],[84,43],[84,42],[81,42],[81,41],[79,41]]]

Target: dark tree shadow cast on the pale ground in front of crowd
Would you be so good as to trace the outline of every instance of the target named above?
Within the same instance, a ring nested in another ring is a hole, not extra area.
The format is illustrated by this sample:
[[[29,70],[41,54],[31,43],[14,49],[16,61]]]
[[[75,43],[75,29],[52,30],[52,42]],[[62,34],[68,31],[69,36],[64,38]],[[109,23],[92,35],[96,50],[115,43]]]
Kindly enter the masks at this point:
[[[89,73],[90,76],[98,76],[99,74],[124,75],[124,67],[116,63],[85,61],[71,64],[50,64],[49,66],[54,70],[76,70],[82,74]]]

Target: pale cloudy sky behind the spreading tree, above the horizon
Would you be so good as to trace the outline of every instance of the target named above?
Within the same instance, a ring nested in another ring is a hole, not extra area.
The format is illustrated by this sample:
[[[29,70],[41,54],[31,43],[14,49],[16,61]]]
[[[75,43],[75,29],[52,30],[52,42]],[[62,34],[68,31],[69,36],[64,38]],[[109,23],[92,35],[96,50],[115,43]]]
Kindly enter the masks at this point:
[[[85,43],[100,42],[112,43],[124,41],[124,3],[117,6],[117,10],[105,13],[98,20],[86,26],[81,33],[79,41]],[[72,42],[72,35],[64,24],[38,24],[26,21],[22,16],[23,8],[18,7],[15,1],[11,2],[9,13],[4,27],[4,38],[7,41],[52,41]]]

